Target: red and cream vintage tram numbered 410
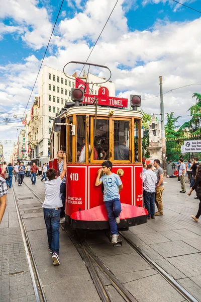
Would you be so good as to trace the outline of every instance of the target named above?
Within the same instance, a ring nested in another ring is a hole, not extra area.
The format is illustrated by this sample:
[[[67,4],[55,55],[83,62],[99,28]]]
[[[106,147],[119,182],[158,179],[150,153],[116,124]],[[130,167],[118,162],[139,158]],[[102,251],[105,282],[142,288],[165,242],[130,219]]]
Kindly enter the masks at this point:
[[[102,87],[99,95],[103,91]],[[95,187],[95,179],[103,161],[110,160],[124,187],[118,229],[128,230],[146,223],[148,214],[142,197],[142,113],[125,110],[122,103],[118,107],[118,102],[116,107],[90,102],[84,98],[81,103],[67,103],[68,108],[55,119],[62,124],[60,131],[55,127],[51,132],[50,168],[58,170],[58,150],[67,154],[65,224],[73,229],[109,229],[102,188]],[[127,150],[127,158],[119,145]]]

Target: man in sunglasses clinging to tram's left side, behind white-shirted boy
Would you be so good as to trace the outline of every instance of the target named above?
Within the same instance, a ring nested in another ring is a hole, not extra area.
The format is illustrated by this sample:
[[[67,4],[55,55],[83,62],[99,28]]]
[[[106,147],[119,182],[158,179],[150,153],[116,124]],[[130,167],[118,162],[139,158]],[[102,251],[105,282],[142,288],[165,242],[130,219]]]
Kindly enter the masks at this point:
[[[61,175],[63,171],[63,150],[58,150],[57,158],[58,158],[59,174]],[[61,212],[60,212],[60,223],[63,223],[65,221],[66,176],[63,177],[60,187],[60,193],[61,193],[61,200],[63,203],[63,207],[61,208]]]

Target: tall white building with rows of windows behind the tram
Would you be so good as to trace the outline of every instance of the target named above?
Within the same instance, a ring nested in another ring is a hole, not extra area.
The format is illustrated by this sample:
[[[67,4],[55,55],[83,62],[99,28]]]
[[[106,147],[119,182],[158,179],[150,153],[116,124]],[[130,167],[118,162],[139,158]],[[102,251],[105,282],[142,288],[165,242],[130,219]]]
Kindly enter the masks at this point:
[[[66,102],[71,101],[71,89],[75,88],[75,77],[68,75],[67,78],[62,71],[56,70],[54,68],[44,66],[39,75],[38,87],[39,87],[39,99],[38,99],[38,157],[46,158],[50,155],[50,145],[49,138],[51,133],[51,128],[53,126],[53,120],[61,110],[64,108]],[[94,74],[83,72],[83,77],[80,79],[85,80],[89,83],[89,88],[91,90],[93,85],[93,91],[90,94],[97,94],[98,89],[105,86],[109,89],[110,96],[115,97],[115,84],[107,82],[105,84],[100,84],[104,82],[103,78],[99,78]]]

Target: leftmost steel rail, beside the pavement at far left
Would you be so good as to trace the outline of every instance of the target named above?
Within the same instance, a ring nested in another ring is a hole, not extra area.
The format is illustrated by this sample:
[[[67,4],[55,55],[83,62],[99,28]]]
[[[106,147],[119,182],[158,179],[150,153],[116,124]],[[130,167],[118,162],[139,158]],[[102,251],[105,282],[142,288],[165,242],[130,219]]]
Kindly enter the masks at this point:
[[[45,292],[43,290],[43,286],[42,286],[40,276],[38,273],[36,261],[34,259],[34,255],[32,252],[29,237],[27,235],[26,227],[25,227],[23,217],[21,214],[21,210],[20,210],[20,206],[18,203],[18,199],[17,199],[17,195],[15,192],[14,186],[12,186],[12,192],[13,192],[14,202],[15,202],[15,206],[16,206],[18,221],[20,224],[20,230],[21,230],[21,235],[22,235],[25,253],[26,253],[26,257],[27,257],[27,262],[28,262],[28,266],[29,266],[29,271],[30,271],[30,275],[31,275],[31,280],[32,280],[32,284],[33,284],[34,294],[36,297],[36,302],[47,302]]]

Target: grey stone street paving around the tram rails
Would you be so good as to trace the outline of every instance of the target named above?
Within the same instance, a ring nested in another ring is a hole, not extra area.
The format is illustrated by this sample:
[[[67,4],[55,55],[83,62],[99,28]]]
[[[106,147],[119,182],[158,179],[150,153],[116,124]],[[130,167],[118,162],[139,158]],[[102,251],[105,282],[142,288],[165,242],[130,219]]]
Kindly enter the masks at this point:
[[[25,182],[31,186],[30,179],[25,178]],[[201,300],[201,222],[196,223],[190,217],[196,214],[199,201],[194,199],[194,193],[191,196],[179,194],[180,183],[176,179],[166,179],[165,182],[164,215],[132,227],[125,234]],[[14,182],[14,188],[47,301],[55,301],[55,297],[59,301],[64,296],[66,301],[99,301],[85,264],[62,230],[61,265],[52,265],[41,204],[25,185],[18,187]],[[44,199],[44,183],[40,178],[37,178],[36,186],[31,188]],[[187,192],[188,189],[189,185],[186,184]],[[33,286],[11,192],[0,228],[0,301],[31,301],[35,300]],[[185,300],[126,242],[122,247],[113,248],[103,232],[90,232],[86,241],[139,302]],[[112,294],[112,287],[110,284],[107,286]],[[121,299],[117,298],[116,301]]]

